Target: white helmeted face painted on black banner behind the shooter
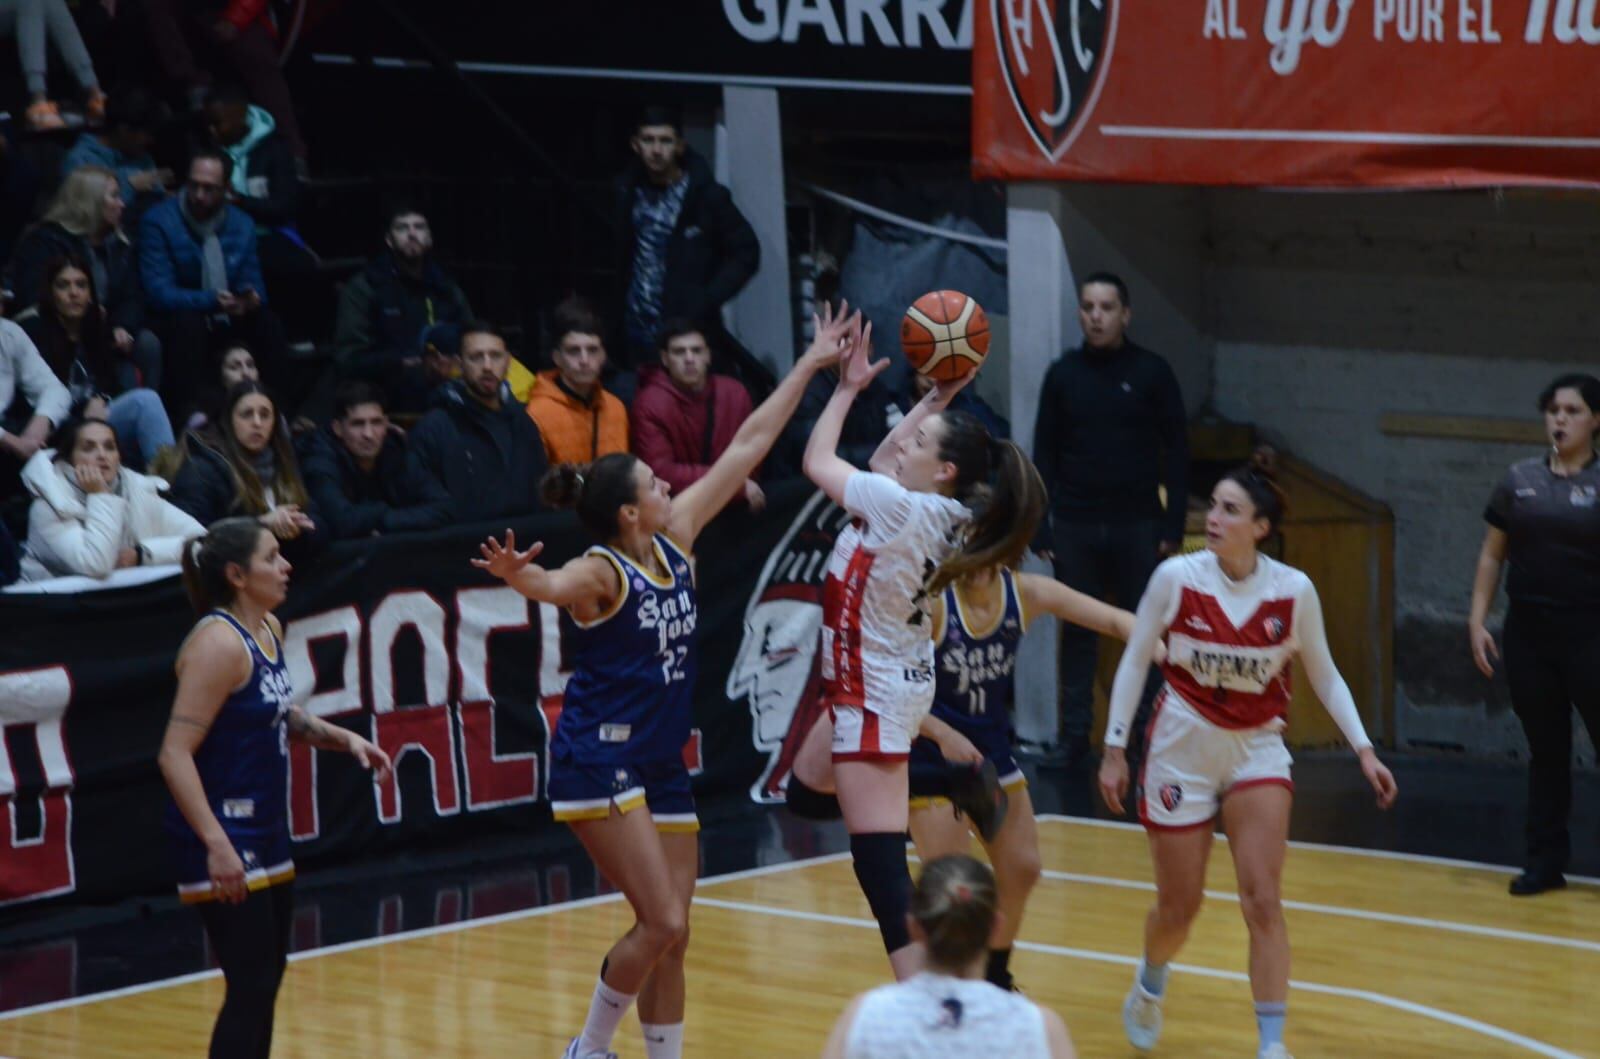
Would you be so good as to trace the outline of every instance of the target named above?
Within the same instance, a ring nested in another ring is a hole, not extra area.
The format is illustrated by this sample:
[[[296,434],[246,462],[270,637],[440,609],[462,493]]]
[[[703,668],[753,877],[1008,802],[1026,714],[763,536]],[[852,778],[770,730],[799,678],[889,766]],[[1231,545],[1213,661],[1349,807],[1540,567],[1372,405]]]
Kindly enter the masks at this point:
[[[750,787],[755,801],[782,801],[800,742],[821,713],[822,577],[834,537],[848,523],[822,493],[806,501],[766,557],[744,609],[728,697],[749,701],[750,741],[768,755]]]

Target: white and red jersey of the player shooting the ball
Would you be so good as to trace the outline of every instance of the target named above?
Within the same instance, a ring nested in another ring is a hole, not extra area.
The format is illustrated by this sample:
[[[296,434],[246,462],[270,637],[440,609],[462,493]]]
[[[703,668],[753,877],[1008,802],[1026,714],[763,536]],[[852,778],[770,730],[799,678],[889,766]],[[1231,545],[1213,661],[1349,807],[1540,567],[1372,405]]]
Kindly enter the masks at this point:
[[[920,723],[933,704],[931,608],[925,585],[962,542],[971,512],[858,470],[822,584],[822,685],[834,705]],[[915,729],[915,723],[912,725]]]

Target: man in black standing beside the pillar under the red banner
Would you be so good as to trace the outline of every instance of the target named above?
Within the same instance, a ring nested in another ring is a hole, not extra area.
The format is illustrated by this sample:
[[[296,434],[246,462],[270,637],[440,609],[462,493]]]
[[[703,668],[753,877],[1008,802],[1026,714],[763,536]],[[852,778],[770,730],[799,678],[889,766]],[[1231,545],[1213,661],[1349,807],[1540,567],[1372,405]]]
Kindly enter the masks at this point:
[[[1155,565],[1179,550],[1189,501],[1184,397],[1171,366],[1126,338],[1128,286],[1109,272],[1078,285],[1083,346],[1045,374],[1034,462],[1050,490],[1045,545],[1056,577],[1134,609]],[[1163,509],[1160,488],[1166,488]],[[1098,635],[1061,633],[1061,739],[1088,750]]]

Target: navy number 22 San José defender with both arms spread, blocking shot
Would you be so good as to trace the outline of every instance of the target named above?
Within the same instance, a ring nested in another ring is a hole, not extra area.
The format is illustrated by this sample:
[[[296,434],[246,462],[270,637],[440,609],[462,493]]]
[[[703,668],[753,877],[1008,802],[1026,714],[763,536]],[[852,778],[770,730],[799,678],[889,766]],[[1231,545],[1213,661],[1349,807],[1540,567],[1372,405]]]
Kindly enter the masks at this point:
[[[810,349],[678,496],[629,453],[557,467],[546,477],[546,499],[576,506],[603,544],[544,569],[533,565],[542,545],[518,552],[507,531],[504,544],[490,537],[472,560],[522,595],[563,608],[573,625],[573,675],[550,742],[550,806],[635,915],[600,965],[589,1017],[566,1059],[610,1056],[635,1000],[648,1057],[682,1054],[683,955],[699,870],[699,822],[682,757],[698,654],[694,541],[766,458],[811,376],[859,341],[861,317],[846,312],[824,307]]]

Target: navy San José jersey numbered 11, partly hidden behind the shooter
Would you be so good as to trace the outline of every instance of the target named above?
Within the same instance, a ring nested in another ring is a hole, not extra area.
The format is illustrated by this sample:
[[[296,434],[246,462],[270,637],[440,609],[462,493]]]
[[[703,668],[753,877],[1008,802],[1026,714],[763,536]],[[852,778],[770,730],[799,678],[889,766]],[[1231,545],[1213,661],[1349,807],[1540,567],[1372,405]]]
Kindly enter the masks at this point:
[[[1027,630],[1022,597],[1010,569],[1000,571],[1005,606],[992,629],[973,629],[955,585],[944,589],[944,629],[934,643],[933,713],[968,737],[1011,729],[1016,645]]]

